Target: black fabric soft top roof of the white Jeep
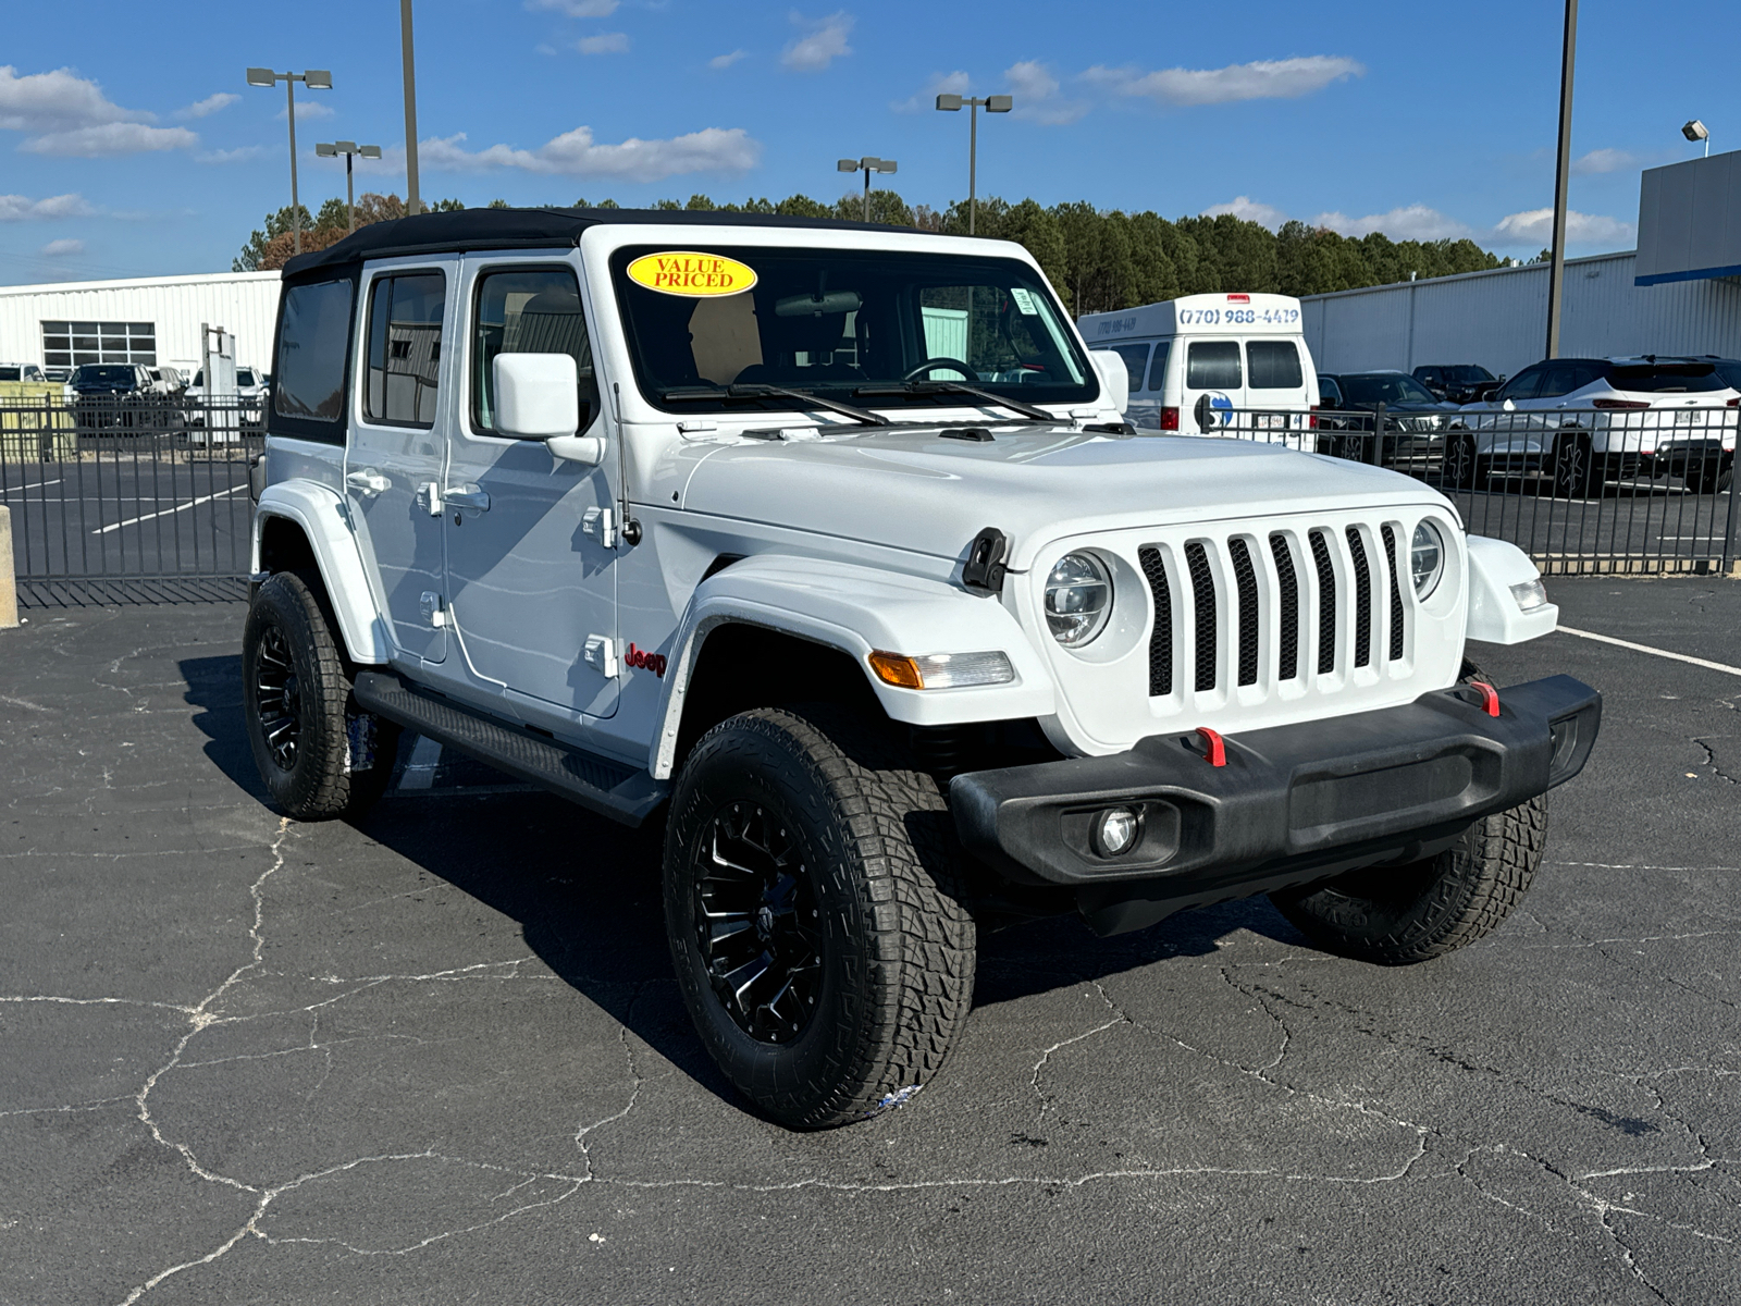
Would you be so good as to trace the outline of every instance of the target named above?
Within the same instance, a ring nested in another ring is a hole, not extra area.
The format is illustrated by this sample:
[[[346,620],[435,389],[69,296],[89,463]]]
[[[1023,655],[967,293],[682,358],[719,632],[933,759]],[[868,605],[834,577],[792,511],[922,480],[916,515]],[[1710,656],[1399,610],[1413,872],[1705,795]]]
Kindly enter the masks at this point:
[[[298,254],[284,265],[286,277],[315,268],[399,254],[458,254],[481,249],[550,249],[576,246],[592,226],[789,226],[829,232],[898,232],[881,223],[843,223],[834,218],[721,212],[717,209],[458,209],[369,223],[336,246]]]

